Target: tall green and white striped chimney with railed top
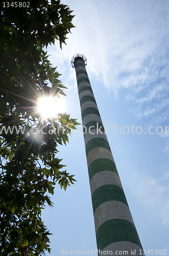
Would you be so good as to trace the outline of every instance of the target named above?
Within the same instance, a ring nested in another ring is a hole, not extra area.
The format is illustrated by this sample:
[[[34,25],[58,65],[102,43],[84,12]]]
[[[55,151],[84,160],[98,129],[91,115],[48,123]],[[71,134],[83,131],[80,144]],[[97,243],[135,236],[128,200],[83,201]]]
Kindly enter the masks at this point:
[[[76,70],[99,255],[142,255],[140,243],[112,156],[85,66],[76,54]],[[100,252],[100,253],[99,253]]]

